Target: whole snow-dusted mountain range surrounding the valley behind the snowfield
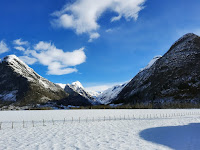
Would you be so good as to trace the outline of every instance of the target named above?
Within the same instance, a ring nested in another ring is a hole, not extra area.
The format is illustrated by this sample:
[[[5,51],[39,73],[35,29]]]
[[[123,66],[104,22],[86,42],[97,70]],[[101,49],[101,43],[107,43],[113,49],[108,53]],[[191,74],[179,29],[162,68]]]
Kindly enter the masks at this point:
[[[163,56],[154,57],[129,82],[103,93],[88,92],[79,81],[54,84],[15,55],[0,60],[0,106],[90,106],[122,103],[199,103],[200,37],[189,33]]]

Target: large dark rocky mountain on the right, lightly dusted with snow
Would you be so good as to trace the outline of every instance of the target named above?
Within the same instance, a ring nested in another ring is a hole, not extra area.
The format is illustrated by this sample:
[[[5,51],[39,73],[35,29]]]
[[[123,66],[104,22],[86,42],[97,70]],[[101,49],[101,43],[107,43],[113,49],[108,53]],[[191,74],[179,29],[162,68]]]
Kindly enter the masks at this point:
[[[189,33],[163,57],[140,71],[119,93],[115,103],[200,102],[200,37]]]

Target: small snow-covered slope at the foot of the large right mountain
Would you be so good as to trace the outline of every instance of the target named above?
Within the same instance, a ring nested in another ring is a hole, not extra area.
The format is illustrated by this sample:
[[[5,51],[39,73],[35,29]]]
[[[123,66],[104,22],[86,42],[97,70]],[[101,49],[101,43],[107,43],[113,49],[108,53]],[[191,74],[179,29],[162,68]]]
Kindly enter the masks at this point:
[[[97,96],[97,100],[102,104],[109,104],[114,100],[117,95],[121,92],[121,90],[126,86],[127,83],[115,85],[112,88],[109,88],[99,96]]]

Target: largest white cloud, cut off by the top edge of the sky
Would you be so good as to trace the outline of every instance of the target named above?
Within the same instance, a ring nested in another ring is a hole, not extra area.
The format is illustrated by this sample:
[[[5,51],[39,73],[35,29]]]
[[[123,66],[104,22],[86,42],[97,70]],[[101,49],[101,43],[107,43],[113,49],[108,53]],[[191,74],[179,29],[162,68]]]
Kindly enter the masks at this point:
[[[107,11],[117,13],[111,22],[124,17],[127,21],[137,20],[138,13],[144,8],[146,0],[76,0],[66,4],[62,10],[54,12],[56,17],[51,21],[53,26],[74,29],[77,34],[88,33],[89,36],[97,33],[100,25],[97,23],[102,14]],[[99,36],[95,36],[98,38]],[[94,38],[94,39],[95,39]],[[92,38],[90,37],[92,40]],[[90,41],[90,40],[89,40]]]

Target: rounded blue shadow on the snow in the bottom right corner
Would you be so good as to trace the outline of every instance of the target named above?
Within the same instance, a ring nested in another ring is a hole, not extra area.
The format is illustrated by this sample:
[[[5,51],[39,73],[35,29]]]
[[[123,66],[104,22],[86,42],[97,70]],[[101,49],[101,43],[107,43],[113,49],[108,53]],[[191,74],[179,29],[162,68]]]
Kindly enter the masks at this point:
[[[200,123],[145,129],[140,137],[175,150],[200,149]]]

